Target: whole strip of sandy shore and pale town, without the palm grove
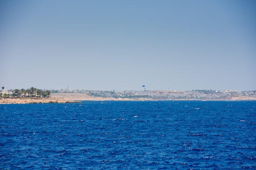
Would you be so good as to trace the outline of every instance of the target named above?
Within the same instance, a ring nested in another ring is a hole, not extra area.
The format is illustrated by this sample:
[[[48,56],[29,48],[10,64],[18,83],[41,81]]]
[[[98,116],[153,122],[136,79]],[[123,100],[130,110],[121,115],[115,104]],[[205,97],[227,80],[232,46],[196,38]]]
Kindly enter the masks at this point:
[[[0,97],[0,104],[72,103],[81,101],[141,101],[141,100],[256,100],[256,91],[51,91],[51,97]]]

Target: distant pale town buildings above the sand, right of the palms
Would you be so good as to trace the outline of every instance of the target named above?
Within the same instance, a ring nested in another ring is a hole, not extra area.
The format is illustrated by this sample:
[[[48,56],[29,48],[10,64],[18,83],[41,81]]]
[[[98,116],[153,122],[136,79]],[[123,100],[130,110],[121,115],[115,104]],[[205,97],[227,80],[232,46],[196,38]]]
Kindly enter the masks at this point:
[[[153,100],[172,100],[172,99],[200,99],[200,100],[229,100],[231,97],[249,97],[256,98],[254,91],[237,90],[192,90],[192,91],[162,91],[162,90],[144,90],[144,91],[98,91],[98,90],[72,90],[61,89],[51,90],[52,93],[82,93],[94,97],[104,98],[150,98]]]

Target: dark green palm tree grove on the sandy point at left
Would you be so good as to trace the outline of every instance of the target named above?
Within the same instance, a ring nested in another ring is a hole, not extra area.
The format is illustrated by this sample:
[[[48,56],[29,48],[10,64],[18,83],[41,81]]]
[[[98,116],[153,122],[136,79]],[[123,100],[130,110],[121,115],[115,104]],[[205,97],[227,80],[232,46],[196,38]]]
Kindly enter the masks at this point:
[[[2,90],[4,90],[4,87],[2,87]],[[8,94],[2,94],[4,97],[7,97]],[[9,96],[16,96],[16,97],[43,97],[43,98],[49,98],[51,95],[51,92],[49,90],[42,90],[37,89],[35,87],[30,87],[29,89],[14,89],[12,90],[12,94]]]

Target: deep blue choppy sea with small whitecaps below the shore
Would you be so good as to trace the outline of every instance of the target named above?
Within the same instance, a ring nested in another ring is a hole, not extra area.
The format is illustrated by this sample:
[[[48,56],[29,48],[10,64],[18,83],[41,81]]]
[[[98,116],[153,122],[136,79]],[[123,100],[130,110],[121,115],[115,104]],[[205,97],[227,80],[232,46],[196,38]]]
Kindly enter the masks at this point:
[[[256,169],[256,102],[0,105],[0,169]]]

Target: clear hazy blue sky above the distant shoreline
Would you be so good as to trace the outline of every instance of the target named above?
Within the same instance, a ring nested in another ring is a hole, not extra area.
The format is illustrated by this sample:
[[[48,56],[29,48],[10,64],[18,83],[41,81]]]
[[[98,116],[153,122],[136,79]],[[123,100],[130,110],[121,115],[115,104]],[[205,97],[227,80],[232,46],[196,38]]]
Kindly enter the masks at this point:
[[[0,87],[256,90],[255,0],[0,0]]]

